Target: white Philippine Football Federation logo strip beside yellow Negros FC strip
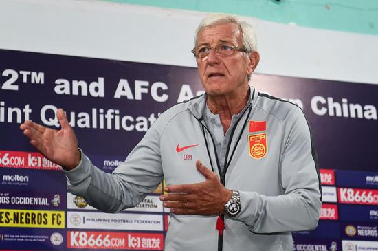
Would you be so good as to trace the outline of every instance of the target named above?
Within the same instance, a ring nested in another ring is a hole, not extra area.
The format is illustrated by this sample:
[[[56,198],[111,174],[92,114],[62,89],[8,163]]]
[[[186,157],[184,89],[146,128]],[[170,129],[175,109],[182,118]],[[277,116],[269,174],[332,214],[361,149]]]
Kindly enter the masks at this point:
[[[73,217],[74,215],[74,217]],[[67,228],[162,231],[163,216],[148,214],[107,214],[103,212],[67,212]]]

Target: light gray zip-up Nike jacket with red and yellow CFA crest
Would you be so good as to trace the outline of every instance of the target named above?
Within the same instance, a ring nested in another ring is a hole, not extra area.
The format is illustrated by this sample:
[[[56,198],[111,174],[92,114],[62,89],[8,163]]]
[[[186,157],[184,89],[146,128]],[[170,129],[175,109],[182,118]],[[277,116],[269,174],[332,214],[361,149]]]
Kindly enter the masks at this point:
[[[241,213],[225,218],[223,250],[291,251],[291,231],[311,230],[318,223],[318,160],[299,107],[258,94],[253,87],[251,95],[225,161],[225,186],[240,191]],[[112,174],[100,171],[83,155],[79,166],[65,171],[69,191],[100,210],[120,212],[137,205],[163,178],[167,185],[203,182],[196,160],[219,173],[214,144],[202,121],[204,107],[202,95],[162,113]],[[255,131],[250,121],[266,121],[266,128]],[[265,135],[266,141],[251,135]],[[176,151],[178,145],[195,144]],[[254,152],[255,146],[261,146],[260,151]],[[216,219],[171,215],[165,250],[218,250]]]

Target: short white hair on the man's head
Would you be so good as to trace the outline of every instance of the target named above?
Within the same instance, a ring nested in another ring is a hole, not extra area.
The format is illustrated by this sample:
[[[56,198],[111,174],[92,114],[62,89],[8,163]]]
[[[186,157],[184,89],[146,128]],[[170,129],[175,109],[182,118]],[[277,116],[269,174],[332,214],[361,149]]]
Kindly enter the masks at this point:
[[[252,25],[247,23],[247,21],[245,21],[244,19],[241,19],[241,17],[221,13],[210,14],[208,15],[208,17],[202,19],[195,33],[195,45],[197,46],[197,37],[199,32],[201,32],[203,28],[227,23],[236,23],[238,25],[238,28],[241,32],[243,47],[247,52],[255,52],[257,50],[256,36],[254,34],[254,29],[252,28]]]

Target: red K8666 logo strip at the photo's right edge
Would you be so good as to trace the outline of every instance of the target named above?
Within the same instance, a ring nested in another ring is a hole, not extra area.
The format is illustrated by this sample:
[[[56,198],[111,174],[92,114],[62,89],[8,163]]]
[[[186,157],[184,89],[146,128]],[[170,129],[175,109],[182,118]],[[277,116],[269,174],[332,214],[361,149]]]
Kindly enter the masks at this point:
[[[339,188],[339,202],[345,204],[378,205],[378,190]]]

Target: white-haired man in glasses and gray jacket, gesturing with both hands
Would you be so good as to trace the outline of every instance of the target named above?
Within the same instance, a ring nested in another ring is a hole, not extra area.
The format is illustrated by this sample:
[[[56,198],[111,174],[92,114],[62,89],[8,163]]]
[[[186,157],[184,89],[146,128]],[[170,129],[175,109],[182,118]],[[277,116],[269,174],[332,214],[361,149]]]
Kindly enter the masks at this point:
[[[321,206],[302,110],[249,87],[259,54],[238,17],[203,19],[192,52],[206,94],[162,113],[112,174],[78,150],[62,109],[60,131],[30,121],[21,129],[65,168],[71,193],[105,212],[137,205],[165,178],[165,250],[292,250],[291,231],[315,228]]]

